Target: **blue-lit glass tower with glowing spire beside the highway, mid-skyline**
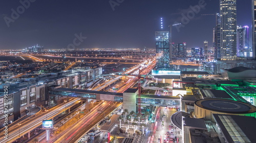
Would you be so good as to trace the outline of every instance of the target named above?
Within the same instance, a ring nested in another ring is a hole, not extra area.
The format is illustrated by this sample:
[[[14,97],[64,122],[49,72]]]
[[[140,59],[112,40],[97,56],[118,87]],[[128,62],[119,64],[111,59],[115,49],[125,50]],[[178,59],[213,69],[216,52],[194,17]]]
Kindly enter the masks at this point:
[[[156,70],[170,70],[170,44],[169,32],[163,31],[163,18],[161,18],[161,31],[155,32],[156,38]]]

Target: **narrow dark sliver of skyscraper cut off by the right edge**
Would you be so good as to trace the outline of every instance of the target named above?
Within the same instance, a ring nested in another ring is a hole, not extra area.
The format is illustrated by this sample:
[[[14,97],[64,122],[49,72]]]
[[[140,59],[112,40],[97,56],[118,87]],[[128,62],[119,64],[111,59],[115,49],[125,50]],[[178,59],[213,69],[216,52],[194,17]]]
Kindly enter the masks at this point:
[[[256,58],[256,0],[251,0],[252,10],[252,51],[253,59]]]

